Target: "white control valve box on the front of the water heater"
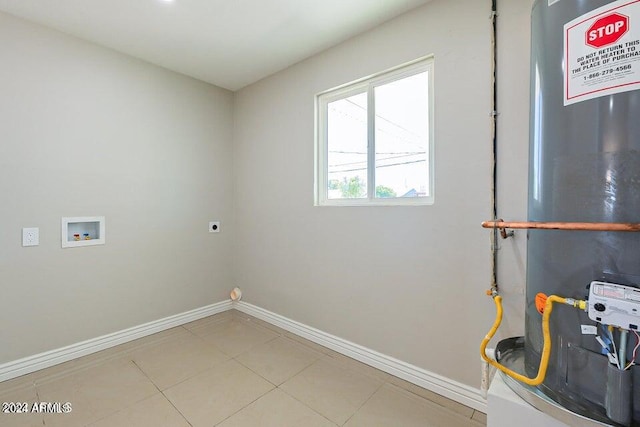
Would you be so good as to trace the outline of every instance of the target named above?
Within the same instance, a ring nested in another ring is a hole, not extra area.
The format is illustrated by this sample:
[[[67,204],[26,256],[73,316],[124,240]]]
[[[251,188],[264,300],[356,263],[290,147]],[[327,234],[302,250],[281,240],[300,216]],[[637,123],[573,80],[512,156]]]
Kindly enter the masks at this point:
[[[589,286],[589,318],[604,325],[638,330],[640,325],[640,289],[607,282]]]

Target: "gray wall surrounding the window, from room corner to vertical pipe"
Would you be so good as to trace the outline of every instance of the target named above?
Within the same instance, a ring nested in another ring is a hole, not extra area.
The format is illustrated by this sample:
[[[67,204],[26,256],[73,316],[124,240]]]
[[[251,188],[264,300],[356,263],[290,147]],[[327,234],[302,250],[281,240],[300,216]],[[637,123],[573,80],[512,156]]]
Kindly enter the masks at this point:
[[[234,277],[246,301],[479,385],[493,320],[480,227],[491,214],[489,15],[490,1],[434,0],[236,94]],[[432,53],[435,204],[314,207],[314,95]],[[513,144],[526,191],[526,139]]]

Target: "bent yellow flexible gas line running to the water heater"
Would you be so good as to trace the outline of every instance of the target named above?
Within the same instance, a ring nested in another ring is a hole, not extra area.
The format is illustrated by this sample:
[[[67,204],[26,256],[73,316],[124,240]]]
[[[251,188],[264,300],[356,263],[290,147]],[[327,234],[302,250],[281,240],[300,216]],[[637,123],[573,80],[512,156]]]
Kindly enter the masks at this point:
[[[562,304],[568,304],[584,310],[584,308],[586,307],[586,301],[578,301],[571,298],[562,298],[556,295],[550,295],[549,297],[547,297],[547,301],[544,306],[544,312],[542,314],[542,335],[544,337],[544,344],[542,346],[542,355],[540,356],[540,367],[538,368],[538,375],[536,375],[535,378],[529,378],[515,371],[512,371],[511,369],[507,368],[504,365],[501,365],[495,360],[490,359],[485,353],[487,344],[489,344],[489,341],[491,340],[491,338],[493,338],[496,331],[498,330],[498,327],[500,326],[500,323],[502,322],[502,297],[496,292],[493,292],[491,296],[493,297],[493,301],[496,304],[496,320],[495,322],[493,322],[491,330],[489,330],[489,333],[487,333],[487,335],[482,340],[482,343],[480,344],[480,356],[485,362],[501,370],[511,378],[514,378],[530,386],[537,386],[542,384],[545,376],[547,375],[549,356],[551,355],[551,334],[549,332],[549,318],[551,317],[551,311],[553,310],[553,303],[559,302]]]

